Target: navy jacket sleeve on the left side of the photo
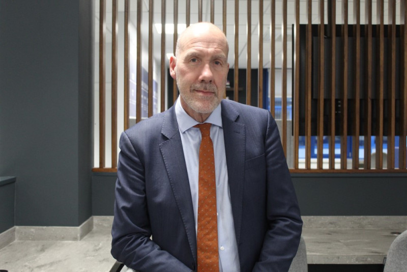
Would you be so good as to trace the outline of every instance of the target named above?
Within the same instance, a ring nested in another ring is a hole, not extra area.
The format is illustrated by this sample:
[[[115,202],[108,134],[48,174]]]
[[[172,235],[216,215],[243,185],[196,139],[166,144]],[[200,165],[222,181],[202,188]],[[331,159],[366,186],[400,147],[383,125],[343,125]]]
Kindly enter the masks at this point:
[[[144,166],[128,135],[120,138],[111,254],[138,271],[191,271],[150,239]]]

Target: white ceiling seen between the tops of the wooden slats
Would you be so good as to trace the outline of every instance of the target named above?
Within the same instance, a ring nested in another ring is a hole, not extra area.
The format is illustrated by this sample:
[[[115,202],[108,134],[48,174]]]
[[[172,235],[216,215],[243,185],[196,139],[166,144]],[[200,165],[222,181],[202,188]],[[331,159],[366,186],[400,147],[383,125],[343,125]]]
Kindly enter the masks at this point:
[[[331,1],[331,0],[328,0]],[[342,0],[336,1],[336,22],[340,23],[342,19]],[[95,40],[99,41],[99,0],[95,0]],[[112,4],[110,0],[106,0],[106,41],[111,42],[111,16],[112,16]],[[282,59],[282,43],[281,43],[281,22],[282,22],[282,0],[276,0],[276,49],[275,49],[275,61],[276,67],[281,67]],[[318,0],[312,0],[312,23],[318,23]],[[349,23],[353,23],[353,0],[348,1],[348,20]],[[372,13],[373,24],[376,22],[376,0],[372,1]],[[384,1],[384,23],[388,22],[388,0]],[[400,0],[396,1],[396,23],[399,23],[399,5]],[[210,0],[202,0],[202,20],[210,21]],[[287,0],[287,65],[292,66],[292,27],[295,22],[295,9],[294,0]],[[300,23],[306,23],[306,1],[300,0]],[[130,20],[136,25],[137,20],[137,1],[130,1]],[[327,23],[327,1],[325,1],[325,23]],[[364,6],[365,1],[360,1],[361,6],[361,22],[364,22]],[[222,29],[222,1],[215,1],[215,24]],[[264,67],[270,67],[270,18],[271,18],[271,1],[264,0],[263,4],[263,65]],[[239,1],[239,67],[245,68],[247,62],[247,1]],[[142,0],[142,40],[146,41],[144,46],[148,46],[148,26],[149,26],[149,0]],[[124,1],[119,0],[119,13],[124,12]],[[198,0],[191,0],[190,8],[190,23],[198,21]],[[258,23],[259,23],[259,1],[251,1],[251,65],[252,68],[258,67]],[[161,23],[161,1],[154,1],[154,23]],[[166,1],[166,23],[173,23],[173,0]],[[178,23],[186,23],[186,0],[178,1]],[[124,22],[119,21],[119,31],[123,30]],[[229,42],[229,64],[230,68],[234,67],[235,63],[235,1],[226,1],[226,37]],[[161,35],[158,34],[156,28],[153,28],[154,34],[154,56],[161,56]],[[173,52],[173,35],[166,35],[166,53]],[[130,48],[132,50],[132,48]],[[135,49],[134,49],[135,50]]]

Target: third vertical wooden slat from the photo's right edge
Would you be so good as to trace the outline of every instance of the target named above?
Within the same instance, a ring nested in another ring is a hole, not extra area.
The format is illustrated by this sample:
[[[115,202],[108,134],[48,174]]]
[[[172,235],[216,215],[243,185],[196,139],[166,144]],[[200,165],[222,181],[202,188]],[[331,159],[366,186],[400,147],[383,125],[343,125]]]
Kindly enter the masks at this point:
[[[377,116],[376,116],[376,169],[383,169],[383,94],[384,94],[384,0],[376,2],[377,34]]]

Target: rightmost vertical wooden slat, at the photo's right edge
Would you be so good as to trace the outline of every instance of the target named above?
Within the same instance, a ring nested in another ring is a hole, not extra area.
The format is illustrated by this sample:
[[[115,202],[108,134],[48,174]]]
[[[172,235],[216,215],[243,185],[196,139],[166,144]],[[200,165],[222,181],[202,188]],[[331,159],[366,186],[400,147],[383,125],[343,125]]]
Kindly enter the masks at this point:
[[[400,24],[401,24],[401,61],[400,61],[400,140],[398,153],[399,169],[406,169],[406,137],[407,137],[407,5],[406,0],[400,0]]]

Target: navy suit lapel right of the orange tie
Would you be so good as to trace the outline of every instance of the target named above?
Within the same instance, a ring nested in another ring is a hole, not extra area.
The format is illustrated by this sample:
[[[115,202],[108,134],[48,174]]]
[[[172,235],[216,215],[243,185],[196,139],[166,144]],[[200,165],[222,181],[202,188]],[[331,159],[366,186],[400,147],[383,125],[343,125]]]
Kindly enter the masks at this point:
[[[239,113],[231,104],[222,100],[221,105],[230,202],[235,225],[236,241],[239,246],[246,149],[245,125],[236,122]]]

